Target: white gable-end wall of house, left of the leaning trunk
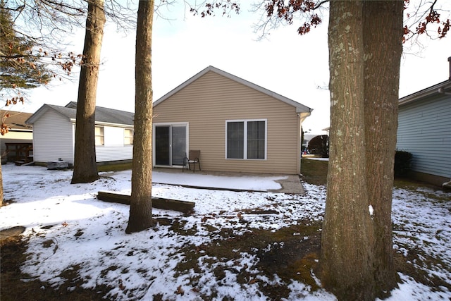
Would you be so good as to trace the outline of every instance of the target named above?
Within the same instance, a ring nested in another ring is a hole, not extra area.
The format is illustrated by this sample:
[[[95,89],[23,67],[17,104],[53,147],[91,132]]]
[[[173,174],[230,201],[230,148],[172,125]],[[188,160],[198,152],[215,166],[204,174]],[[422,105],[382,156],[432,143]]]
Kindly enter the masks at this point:
[[[49,109],[33,124],[33,159],[46,163],[59,158],[73,164],[73,123]]]

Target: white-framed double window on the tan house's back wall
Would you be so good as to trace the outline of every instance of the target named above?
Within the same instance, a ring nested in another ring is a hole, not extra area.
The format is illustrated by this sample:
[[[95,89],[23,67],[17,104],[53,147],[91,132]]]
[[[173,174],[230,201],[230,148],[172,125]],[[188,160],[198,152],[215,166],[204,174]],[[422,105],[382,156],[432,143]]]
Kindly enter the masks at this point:
[[[266,120],[226,123],[227,159],[266,159]]]

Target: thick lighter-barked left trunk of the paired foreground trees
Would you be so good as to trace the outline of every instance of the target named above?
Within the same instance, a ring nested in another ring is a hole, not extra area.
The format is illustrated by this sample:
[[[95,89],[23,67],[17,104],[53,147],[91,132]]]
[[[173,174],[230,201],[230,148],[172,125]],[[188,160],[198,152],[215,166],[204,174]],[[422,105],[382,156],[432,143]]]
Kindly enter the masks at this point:
[[[320,275],[339,300],[374,300],[363,42],[362,1],[330,1],[330,159]]]

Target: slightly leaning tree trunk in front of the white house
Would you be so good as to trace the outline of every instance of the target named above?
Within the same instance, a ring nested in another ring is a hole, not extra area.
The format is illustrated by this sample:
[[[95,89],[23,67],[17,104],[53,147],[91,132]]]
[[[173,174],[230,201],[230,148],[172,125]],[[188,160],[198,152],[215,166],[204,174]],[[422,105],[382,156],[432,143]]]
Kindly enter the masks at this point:
[[[88,1],[83,64],[78,84],[74,169],[71,183],[89,183],[99,178],[94,130],[100,51],[106,21],[104,4],[104,0]]]

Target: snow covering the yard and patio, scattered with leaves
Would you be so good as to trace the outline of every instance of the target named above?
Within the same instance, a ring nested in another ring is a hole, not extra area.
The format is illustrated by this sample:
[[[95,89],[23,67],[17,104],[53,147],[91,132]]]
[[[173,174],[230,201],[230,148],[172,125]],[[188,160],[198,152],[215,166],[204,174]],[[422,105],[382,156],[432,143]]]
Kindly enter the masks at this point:
[[[154,209],[155,218],[178,219],[186,233],[157,225],[147,231],[125,234],[129,207],[101,202],[99,190],[130,193],[130,171],[103,173],[95,183],[70,185],[71,171],[49,171],[39,166],[2,166],[4,198],[11,204],[0,209],[0,230],[25,226],[30,237],[23,272],[57,286],[63,283],[63,271],[78,269],[85,288],[111,285],[107,297],[117,300],[202,300],[202,295],[215,295],[233,300],[268,300],[259,291],[259,283],[277,282],[259,275],[254,254],[240,252],[233,262],[205,256],[199,257],[201,271],[175,271],[183,262],[179,250],[187,245],[199,246],[221,239],[211,228],[231,229],[235,235],[249,228],[276,231],[301,220],[321,221],[326,188],[304,183],[306,195],[284,195],[275,192],[231,192],[182,188],[154,184],[154,197],[195,202],[194,214],[184,216],[176,211]],[[154,182],[171,183],[172,174],[154,173]],[[194,176],[190,174],[189,176]],[[180,180],[180,179],[179,179]],[[184,179],[183,181],[189,179]],[[276,178],[236,178],[203,176],[202,183],[216,183],[221,188],[249,190],[277,189]],[[180,182],[173,182],[178,183]],[[194,180],[193,183],[196,183]],[[192,185],[193,183],[190,183]],[[246,214],[245,209],[274,210],[277,214]],[[394,245],[405,256],[409,250],[423,250],[437,264],[412,262],[416,269],[451,283],[451,202],[450,194],[431,189],[393,192]],[[246,223],[240,223],[245,219]],[[209,231],[210,229],[210,231]],[[293,233],[294,235],[296,233]],[[423,253],[421,253],[423,254]],[[212,263],[213,262],[213,263]],[[429,261],[431,262],[431,261]],[[237,274],[226,273],[220,280],[211,266],[235,265],[238,270],[254,275],[258,281],[238,283]],[[393,290],[388,300],[451,300],[451,291],[443,286],[429,287],[400,275],[403,283]],[[197,278],[194,289],[190,279]],[[277,283],[275,283],[277,284]],[[311,291],[309,285],[287,283],[287,300],[335,300],[324,291]],[[182,293],[183,292],[183,293]]]

